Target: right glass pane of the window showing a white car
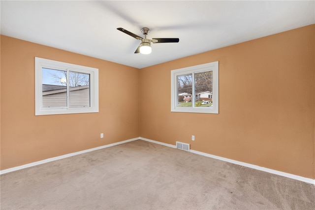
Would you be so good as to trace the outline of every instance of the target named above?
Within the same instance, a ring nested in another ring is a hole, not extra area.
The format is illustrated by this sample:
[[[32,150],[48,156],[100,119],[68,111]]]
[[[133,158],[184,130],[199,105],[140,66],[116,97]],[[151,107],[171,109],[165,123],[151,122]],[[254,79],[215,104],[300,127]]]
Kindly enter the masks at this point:
[[[194,74],[195,107],[211,107],[212,105],[212,70]]]

